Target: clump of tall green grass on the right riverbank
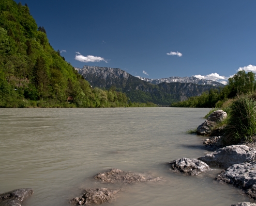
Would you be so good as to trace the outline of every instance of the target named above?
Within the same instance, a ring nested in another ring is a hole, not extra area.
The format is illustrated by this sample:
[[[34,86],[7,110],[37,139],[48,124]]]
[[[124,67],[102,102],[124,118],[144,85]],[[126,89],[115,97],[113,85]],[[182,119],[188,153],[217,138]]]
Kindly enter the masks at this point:
[[[238,96],[230,105],[225,128],[225,142],[236,144],[240,140],[250,141],[256,134],[256,101],[251,95]]]

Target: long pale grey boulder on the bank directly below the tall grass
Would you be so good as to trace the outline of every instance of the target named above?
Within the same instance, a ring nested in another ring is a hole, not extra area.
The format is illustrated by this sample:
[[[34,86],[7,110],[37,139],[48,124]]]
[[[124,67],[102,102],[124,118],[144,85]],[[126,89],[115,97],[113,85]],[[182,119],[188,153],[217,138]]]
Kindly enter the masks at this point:
[[[198,158],[210,166],[229,167],[233,164],[251,161],[255,157],[255,149],[246,145],[231,145],[219,148]]]

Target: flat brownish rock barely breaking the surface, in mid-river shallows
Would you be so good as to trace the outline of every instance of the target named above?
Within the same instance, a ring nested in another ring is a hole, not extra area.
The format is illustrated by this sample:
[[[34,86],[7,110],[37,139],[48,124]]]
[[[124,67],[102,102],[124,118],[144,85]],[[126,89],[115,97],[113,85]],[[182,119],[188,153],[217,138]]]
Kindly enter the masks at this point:
[[[132,173],[130,171],[122,171],[121,169],[110,169],[105,173],[99,173],[94,177],[101,183],[126,183],[132,184],[136,182],[147,182],[160,180],[159,177],[154,178],[150,175],[143,175],[139,173]]]

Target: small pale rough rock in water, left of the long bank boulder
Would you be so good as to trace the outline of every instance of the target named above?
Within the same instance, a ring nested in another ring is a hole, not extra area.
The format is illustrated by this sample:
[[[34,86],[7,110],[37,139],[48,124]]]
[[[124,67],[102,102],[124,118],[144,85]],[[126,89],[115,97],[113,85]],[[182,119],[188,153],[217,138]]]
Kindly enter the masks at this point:
[[[202,171],[208,170],[210,167],[204,162],[197,159],[181,158],[168,162],[172,169],[186,175],[199,175]]]

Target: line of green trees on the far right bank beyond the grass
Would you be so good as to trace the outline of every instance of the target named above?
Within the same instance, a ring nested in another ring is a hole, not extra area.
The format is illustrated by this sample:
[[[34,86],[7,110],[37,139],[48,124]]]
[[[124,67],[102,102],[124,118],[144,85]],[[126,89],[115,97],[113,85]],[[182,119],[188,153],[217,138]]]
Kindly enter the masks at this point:
[[[220,108],[223,102],[237,95],[253,93],[256,90],[255,74],[245,71],[237,72],[228,79],[227,85],[211,89],[200,96],[190,97],[185,101],[174,102],[170,107]]]

